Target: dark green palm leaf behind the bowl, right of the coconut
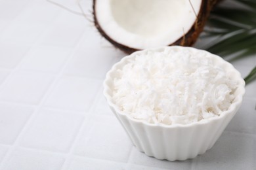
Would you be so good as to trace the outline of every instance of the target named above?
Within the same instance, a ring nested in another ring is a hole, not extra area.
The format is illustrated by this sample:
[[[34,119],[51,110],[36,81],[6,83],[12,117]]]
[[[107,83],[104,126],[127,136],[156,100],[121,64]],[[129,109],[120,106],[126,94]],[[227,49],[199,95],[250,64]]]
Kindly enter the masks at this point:
[[[209,38],[215,39],[203,48],[223,58],[232,56],[229,61],[256,55],[256,1],[232,0],[217,5],[200,36],[202,40]],[[245,82],[255,79],[256,67]]]

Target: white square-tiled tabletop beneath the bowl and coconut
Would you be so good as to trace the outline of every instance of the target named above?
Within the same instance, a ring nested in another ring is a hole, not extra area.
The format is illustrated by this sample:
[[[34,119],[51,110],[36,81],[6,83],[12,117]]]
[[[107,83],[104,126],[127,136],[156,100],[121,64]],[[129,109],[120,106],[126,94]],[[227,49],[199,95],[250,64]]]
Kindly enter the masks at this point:
[[[131,144],[102,95],[122,56],[81,16],[45,0],[0,0],[0,169],[256,169],[256,82],[211,150],[160,161]],[[256,57],[233,64],[245,76]]]

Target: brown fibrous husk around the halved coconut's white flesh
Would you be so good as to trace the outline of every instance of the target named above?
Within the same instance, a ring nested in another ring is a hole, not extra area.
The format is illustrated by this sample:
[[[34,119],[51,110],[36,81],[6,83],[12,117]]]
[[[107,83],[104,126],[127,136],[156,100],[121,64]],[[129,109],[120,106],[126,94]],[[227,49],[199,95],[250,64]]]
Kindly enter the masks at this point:
[[[218,3],[221,0],[202,0],[202,4],[200,7],[200,11],[198,13],[197,19],[190,28],[190,30],[187,33],[184,33],[184,35],[180,38],[177,39],[177,41],[173,42],[172,44],[169,44],[168,46],[173,46],[173,45],[179,45],[179,46],[192,46],[196,40],[198,39],[200,33],[203,31],[203,27],[205,25],[205,22],[207,21],[207,18],[215,6],[216,3]],[[142,50],[142,49],[136,49],[136,48],[131,48],[129,46],[125,46],[124,44],[120,44],[116,42],[114,39],[111,39],[102,27],[100,27],[100,24],[98,24],[98,20],[96,18],[96,8],[95,8],[95,3],[96,0],[93,0],[93,19],[94,19],[94,24],[96,29],[98,29],[98,32],[107,39],[110,43],[112,43],[116,48],[119,48],[123,52],[127,54],[131,54],[137,50]]]

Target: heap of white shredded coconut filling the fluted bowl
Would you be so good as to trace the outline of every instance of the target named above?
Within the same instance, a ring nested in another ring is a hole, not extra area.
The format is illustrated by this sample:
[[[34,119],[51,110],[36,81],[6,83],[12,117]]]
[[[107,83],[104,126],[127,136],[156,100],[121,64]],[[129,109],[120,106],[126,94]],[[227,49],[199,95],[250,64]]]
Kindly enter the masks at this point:
[[[214,58],[188,48],[135,53],[117,69],[112,99],[125,114],[152,124],[219,116],[231,105],[237,82]]]

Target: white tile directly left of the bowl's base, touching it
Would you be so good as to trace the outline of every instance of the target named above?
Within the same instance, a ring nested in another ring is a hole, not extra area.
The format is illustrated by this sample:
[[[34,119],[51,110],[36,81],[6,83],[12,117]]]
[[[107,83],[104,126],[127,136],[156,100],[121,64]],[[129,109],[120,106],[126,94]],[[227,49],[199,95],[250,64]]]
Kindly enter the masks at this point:
[[[132,144],[125,131],[116,124],[116,118],[95,115],[83,128],[74,154],[101,160],[127,162],[131,148]],[[116,152],[117,150],[122,152]]]

